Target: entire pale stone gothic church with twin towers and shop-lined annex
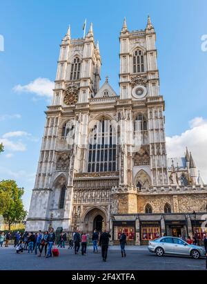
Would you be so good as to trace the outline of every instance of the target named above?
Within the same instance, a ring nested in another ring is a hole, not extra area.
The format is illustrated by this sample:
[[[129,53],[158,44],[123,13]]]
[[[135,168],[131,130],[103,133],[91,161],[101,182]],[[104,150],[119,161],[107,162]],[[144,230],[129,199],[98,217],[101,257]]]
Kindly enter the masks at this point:
[[[99,87],[101,55],[92,24],[61,42],[52,105],[46,111],[28,231],[106,228],[114,243],[145,244],[161,234],[202,238],[207,185],[186,149],[168,160],[156,34],[120,32],[119,94]]]

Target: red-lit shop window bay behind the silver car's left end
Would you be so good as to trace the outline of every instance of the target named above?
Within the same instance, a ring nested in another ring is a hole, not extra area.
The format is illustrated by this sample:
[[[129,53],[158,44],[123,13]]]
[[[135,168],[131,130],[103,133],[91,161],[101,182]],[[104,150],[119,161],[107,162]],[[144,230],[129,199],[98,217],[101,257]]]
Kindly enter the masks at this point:
[[[155,240],[161,236],[160,221],[140,221],[140,245],[148,245],[149,240]]]

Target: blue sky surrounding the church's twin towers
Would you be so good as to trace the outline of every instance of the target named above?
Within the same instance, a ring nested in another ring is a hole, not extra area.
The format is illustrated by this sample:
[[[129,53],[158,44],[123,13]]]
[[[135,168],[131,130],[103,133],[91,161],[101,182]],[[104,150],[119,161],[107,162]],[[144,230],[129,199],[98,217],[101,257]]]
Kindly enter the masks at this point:
[[[83,36],[85,18],[93,22],[102,57],[101,77],[119,93],[119,32],[126,16],[129,30],[146,28],[150,14],[157,32],[160,91],[166,100],[166,135],[170,155],[188,146],[207,181],[207,34],[206,0],[57,1],[1,0],[0,139],[6,151],[0,158],[0,179],[14,178],[25,187],[30,202],[39,159],[48,98],[14,91],[35,79],[54,81],[59,44],[71,25],[72,37]],[[190,122],[191,121],[191,122]],[[187,144],[187,145],[186,145]],[[174,146],[175,145],[175,146]],[[181,150],[183,149],[183,150]]]

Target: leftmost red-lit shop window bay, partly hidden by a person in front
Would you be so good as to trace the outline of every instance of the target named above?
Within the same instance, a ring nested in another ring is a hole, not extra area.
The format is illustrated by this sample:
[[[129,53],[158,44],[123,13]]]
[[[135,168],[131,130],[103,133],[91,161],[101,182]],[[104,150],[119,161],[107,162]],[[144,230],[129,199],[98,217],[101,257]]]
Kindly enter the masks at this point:
[[[126,234],[128,245],[135,245],[135,221],[114,221],[113,222],[113,243],[119,244],[122,231]]]

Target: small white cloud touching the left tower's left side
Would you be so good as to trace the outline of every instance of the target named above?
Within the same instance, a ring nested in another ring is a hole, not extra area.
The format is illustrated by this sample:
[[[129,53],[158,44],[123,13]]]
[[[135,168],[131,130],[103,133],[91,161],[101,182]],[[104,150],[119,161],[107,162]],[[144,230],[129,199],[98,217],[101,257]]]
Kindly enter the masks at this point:
[[[38,97],[46,97],[50,99],[52,97],[52,89],[54,88],[54,82],[51,82],[48,78],[37,78],[27,85],[14,86],[13,90],[18,93],[33,93]]]

